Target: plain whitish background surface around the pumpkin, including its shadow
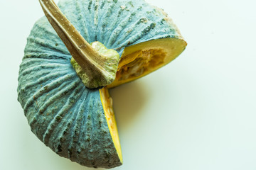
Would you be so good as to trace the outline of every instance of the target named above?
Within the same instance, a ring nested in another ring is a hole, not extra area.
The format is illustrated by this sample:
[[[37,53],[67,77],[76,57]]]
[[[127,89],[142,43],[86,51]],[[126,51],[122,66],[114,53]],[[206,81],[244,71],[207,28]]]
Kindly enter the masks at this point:
[[[110,91],[124,164],[118,170],[256,169],[255,0],[148,0],[188,42],[171,64]],[[16,100],[36,0],[0,1],[0,169],[86,170],[31,132]]]

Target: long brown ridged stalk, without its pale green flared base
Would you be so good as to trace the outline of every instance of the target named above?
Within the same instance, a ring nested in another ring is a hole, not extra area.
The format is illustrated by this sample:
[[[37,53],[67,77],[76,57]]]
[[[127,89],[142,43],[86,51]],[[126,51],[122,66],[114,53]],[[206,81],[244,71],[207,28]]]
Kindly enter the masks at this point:
[[[53,0],[39,0],[48,21],[58,33],[76,62],[89,77],[105,79],[105,58],[80,35],[78,30],[63,15]]]

